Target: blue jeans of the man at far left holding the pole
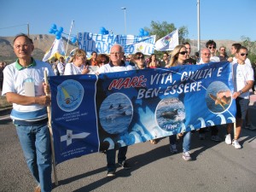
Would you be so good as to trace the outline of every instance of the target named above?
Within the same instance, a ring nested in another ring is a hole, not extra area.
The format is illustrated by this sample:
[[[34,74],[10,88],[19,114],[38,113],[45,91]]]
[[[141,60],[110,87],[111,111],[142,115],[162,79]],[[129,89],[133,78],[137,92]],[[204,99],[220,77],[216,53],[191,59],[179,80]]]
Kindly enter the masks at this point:
[[[20,145],[41,191],[51,191],[51,150],[47,125],[16,125]]]

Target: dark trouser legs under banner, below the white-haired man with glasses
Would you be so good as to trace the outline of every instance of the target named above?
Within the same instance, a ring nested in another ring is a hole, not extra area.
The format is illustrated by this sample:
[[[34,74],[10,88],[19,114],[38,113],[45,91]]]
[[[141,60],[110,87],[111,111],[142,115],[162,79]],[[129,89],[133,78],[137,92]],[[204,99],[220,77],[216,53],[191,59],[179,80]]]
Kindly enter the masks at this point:
[[[118,162],[122,163],[126,160],[127,146],[119,148]],[[107,151],[107,163],[108,171],[115,171],[115,149],[110,149]]]

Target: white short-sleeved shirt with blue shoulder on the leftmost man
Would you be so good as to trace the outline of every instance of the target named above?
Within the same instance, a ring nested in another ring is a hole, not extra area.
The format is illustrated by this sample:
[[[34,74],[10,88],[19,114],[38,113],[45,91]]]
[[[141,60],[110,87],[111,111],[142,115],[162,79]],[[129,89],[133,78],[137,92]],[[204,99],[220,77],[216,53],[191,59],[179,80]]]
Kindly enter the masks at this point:
[[[25,82],[29,80],[30,82],[34,82],[34,95],[44,96],[44,70],[46,70],[48,76],[55,76],[55,73],[53,72],[49,63],[38,60],[35,62],[36,66],[22,68],[21,70],[18,70],[18,68],[15,67],[16,62],[6,66],[3,70],[4,79],[2,95],[13,92],[19,94],[20,96],[26,96]],[[13,103],[13,108],[17,112],[32,112],[45,108],[45,106],[39,104],[24,106]]]

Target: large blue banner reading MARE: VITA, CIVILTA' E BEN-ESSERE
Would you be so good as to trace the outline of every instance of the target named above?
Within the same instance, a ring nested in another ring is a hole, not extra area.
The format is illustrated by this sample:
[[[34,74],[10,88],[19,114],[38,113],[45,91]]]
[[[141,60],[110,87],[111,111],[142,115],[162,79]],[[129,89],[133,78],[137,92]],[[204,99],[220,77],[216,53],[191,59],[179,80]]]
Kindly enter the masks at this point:
[[[229,62],[49,77],[49,84],[56,163],[236,121]]]

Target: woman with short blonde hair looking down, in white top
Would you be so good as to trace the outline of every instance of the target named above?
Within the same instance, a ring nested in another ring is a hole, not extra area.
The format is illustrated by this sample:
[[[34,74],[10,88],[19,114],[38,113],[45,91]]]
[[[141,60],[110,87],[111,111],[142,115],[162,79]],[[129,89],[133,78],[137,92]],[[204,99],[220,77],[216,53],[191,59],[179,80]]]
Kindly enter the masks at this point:
[[[64,75],[86,74],[90,70],[85,66],[86,53],[83,49],[76,49],[73,61],[66,64]]]

